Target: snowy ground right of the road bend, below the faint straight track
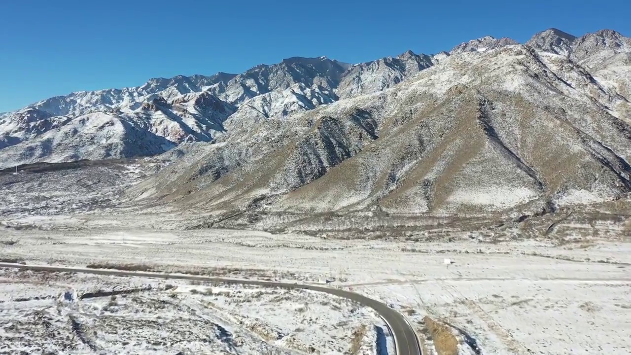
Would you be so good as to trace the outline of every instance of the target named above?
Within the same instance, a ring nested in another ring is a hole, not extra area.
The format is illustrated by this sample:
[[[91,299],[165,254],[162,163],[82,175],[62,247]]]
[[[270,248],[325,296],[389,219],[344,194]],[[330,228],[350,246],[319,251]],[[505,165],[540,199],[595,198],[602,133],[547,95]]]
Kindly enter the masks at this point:
[[[363,291],[400,309],[420,310],[411,316],[413,322],[429,314],[456,324],[476,339],[483,354],[526,354],[527,349],[554,355],[626,354],[630,282],[454,279]]]

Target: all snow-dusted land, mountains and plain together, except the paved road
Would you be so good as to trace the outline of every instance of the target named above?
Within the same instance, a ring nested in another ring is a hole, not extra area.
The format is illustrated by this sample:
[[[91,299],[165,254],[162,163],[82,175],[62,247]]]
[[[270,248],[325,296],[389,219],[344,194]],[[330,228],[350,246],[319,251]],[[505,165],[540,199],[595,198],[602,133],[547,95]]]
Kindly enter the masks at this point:
[[[628,202],[621,182],[628,180],[624,162],[631,146],[620,127],[631,120],[625,99],[631,47],[610,32],[563,36],[567,41],[556,44],[558,33],[541,34],[536,51],[484,37],[452,54],[406,52],[326,78],[274,71],[280,64],[223,80],[157,78],[138,88],[76,92],[9,112],[0,120],[2,166],[153,155],[179,146],[143,162],[2,176],[0,257],[243,279],[331,280],[331,287],[409,311],[421,334],[422,316],[446,321],[475,338],[484,354],[627,354],[628,223],[609,210],[599,219],[598,206],[579,205],[621,196],[616,206]],[[584,42],[582,52],[575,41]],[[292,61],[298,68],[332,63],[293,58],[283,65]],[[343,63],[339,68],[347,70]],[[425,116],[417,117],[420,112]],[[332,117],[334,128],[323,126],[323,117]],[[294,150],[303,143],[308,149]],[[289,159],[282,155],[287,149]],[[349,161],[329,159],[339,152]],[[309,164],[301,160],[307,155]],[[430,164],[423,167],[425,162]],[[273,178],[265,175],[270,166],[278,166]],[[211,171],[204,174],[206,169]],[[305,171],[326,174],[304,179]],[[239,190],[243,186],[249,190]],[[180,190],[186,195],[173,193]],[[182,203],[182,209],[143,205],[158,196]],[[240,203],[260,196],[266,198],[263,206],[235,224],[284,234],[169,230],[206,226],[217,217],[206,212],[242,210]],[[548,202],[561,211],[538,217],[516,208],[510,211],[513,221],[497,231],[506,219],[495,212],[528,205],[538,213]],[[463,211],[463,219],[449,215]],[[584,211],[592,214],[580,215]],[[434,212],[475,230],[454,227],[456,222],[445,226],[428,215]],[[492,214],[480,222],[479,214],[487,212]],[[528,220],[514,222],[521,217]],[[542,232],[528,229],[531,222],[565,232],[541,239]],[[362,239],[335,240],[349,235]],[[401,235],[454,242],[371,239]],[[502,242],[523,236],[531,239]],[[182,283],[167,290],[148,279],[55,273],[4,272],[0,283],[0,299],[8,300],[0,303],[0,336],[17,334],[11,338],[14,352],[61,344],[50,340],[45,322],[73,337],[79,352],[97,346],[173,354],[236,346],[245,355],[308,352],[313,346],[340,354],[364,325],[362,353],[373,354],[384,342],[384,325],[370,310],[307,291]],[[151,291],[133,298],[80,298],[100,288],[147,284]],[[81,340],[68,327],[72,322],[97,330],[95,339]],[[209,334],[212,341],[199,340]],[[162,344],[175,338],[181,347]],[[431,347],[432,340],[425,340]],[[464,342],[460,347],[463,354],[473,353]]]

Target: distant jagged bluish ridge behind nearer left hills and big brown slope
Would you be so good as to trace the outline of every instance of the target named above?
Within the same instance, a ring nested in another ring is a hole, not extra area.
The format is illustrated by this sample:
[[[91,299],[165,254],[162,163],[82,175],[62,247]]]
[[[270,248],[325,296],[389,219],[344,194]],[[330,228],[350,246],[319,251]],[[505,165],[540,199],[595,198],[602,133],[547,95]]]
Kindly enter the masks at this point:
[[[176,144],[184,139],[210,141],[223,132],[221,122],[236,111],[235,106],[246,101],[248,107],[238,115],[245,120],[276,114],[287,116],[297,110],[330,104],[339,97],[392,87],[448,56],[446,52],[427,56],[408,51],[396,58],[387,57],[357,66],[327,57],[292,57],[278,64],[261,64],[240,75],[180,75],[169,79],[153,78],[134,88],[74,92],[42,100],[0,117],[0,149],[34,139],[70,119],[95,112],[121,115],[133,121],[134,126],[148,129]],[[291,88],[298,88],[298,91],[292,93],[290,90],[282,95],[273,93]],[[199,92],[212,93],[215,99],[221,100],[215,102],[218,112],[204,109],[199,112],[194,107],[184,107],[183,102],[176,102],[176,107],[168,104],[170,100],[187,100],[182,99],[183,95]],[[29,122],[28,126],[23,123],[25,120]],[[138,152],[139,155],[146,153]],[[0,157],[2,155],[0,151]]]

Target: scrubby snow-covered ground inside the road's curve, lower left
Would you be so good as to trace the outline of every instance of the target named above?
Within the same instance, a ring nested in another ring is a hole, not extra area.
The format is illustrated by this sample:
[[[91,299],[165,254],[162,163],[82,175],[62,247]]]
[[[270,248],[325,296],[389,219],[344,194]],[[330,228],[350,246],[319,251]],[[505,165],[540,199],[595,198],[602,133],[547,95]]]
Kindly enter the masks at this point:
[[[0,354],[392,353],[374,311],[320,292],[16,270],[0,284]]]

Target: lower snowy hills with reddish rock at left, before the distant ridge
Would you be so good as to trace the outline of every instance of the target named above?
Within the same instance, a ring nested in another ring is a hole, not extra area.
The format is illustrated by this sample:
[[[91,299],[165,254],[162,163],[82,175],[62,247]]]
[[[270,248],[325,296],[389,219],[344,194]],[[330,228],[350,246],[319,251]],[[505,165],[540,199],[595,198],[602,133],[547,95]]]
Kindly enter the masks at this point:
[[[223,121],[236,107],[209,92],[194,92],[170,101],[156,97],[126,111],[109,109],[73,118],[28,108],[4,117],[0,166],[155,155],[182,141],[213,140],[225,131]]]

